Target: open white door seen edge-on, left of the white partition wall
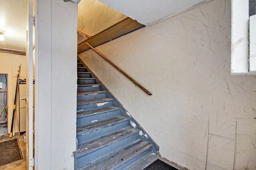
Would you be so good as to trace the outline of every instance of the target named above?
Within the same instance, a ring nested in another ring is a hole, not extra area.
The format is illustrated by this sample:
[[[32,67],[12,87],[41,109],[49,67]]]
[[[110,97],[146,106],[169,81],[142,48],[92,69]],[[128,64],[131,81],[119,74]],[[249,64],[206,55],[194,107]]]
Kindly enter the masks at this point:
[[[28,1],[27,27],[27,80],[26,80],[26,160],[27,169],[33,170],[33,0]]]

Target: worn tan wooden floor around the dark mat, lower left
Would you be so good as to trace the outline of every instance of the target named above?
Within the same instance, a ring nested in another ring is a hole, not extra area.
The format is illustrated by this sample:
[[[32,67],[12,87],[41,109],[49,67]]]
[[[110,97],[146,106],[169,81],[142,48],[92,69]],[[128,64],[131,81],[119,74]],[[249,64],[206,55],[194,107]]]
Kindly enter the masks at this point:
[[[6,134],[4,136],[0,137],[0,142],[4,142],[7,140],[12,140],[18,138],[18,142],[20,145],[20,150],[22,152],[22,160],[17,160],[15,162],[12,162],[7,165],[0,166],[0,170],[26,170],[27,165],[26,165],[26,144],[24,143],[24,137],[23,135],[15,134],[12,138],[9,138],[9,135]],[[3,159],[4,156],[1,155],[1,159]]]

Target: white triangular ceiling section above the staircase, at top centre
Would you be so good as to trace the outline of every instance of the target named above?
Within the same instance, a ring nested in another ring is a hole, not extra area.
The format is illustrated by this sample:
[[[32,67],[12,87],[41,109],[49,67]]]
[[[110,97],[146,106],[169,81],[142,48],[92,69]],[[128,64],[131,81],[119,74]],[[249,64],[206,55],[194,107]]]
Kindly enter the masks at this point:
[[[146,26],[206,0],[100,0]]]

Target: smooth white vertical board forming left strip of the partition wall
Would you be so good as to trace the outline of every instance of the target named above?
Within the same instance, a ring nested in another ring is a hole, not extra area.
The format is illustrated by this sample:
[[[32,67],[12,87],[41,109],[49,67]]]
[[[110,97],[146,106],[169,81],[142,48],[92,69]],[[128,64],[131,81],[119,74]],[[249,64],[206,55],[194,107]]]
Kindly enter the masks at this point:
[[[35,169],[51,169],[52,25],[51,0],[35,8]]]

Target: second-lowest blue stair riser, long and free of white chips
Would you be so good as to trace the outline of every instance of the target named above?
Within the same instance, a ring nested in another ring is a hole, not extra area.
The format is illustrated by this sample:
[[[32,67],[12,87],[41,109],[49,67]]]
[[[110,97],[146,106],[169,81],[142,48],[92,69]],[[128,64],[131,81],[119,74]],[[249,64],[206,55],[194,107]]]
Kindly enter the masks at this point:
[[[138,133],[128,136],[118,142],[112,143],[98,150],[95,150],[94,152],[91,152],[89,154],[76,158],[75,161],[77,162],[77,167],[87,164],[88,162],[91,162],[92,160],[97,159],[101,156],[104,156],[110,152],[113,152],[114,150],[118,150],[119,148],[122,148],[126,144],[129,144],[136,139],[138,139]]]

